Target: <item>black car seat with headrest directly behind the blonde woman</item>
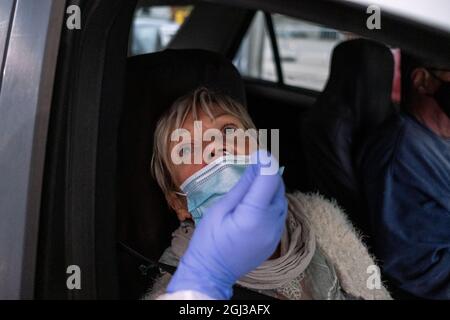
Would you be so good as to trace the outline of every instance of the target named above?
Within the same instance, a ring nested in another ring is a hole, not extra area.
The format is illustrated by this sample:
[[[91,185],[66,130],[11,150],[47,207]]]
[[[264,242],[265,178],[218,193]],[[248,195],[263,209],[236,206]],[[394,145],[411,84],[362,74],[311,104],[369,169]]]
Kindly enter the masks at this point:
[[[161,114],[200,86],[246,104],[239,72],[219,54],[186,49],[129,58],[118,145],[118,232],[119,240],[153,259],[177,226],[151,177],[153,133]]]

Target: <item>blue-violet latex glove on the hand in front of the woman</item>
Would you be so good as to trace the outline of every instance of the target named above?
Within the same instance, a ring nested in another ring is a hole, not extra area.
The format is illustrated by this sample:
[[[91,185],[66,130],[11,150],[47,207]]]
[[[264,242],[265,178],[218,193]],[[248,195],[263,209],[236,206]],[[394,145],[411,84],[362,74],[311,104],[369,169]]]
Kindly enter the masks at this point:
[[[229,299],[233,284],[273,254],[284,230],[287,200],[281,176],[261,175],[261,167],[250,165],[233,189],[208,209],[168,293],[193,290]]]

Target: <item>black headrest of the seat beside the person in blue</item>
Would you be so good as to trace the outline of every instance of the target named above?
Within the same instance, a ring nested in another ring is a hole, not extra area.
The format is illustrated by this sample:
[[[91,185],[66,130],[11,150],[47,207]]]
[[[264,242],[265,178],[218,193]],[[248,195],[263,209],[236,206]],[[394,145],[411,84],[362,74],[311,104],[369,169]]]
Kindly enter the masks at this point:
[[[317,114],[350,117],[364,135],[392,112],[393,68],[392,53],[383,44],[367,39],[340,43],[333,51],[325,90],[314,107]]]

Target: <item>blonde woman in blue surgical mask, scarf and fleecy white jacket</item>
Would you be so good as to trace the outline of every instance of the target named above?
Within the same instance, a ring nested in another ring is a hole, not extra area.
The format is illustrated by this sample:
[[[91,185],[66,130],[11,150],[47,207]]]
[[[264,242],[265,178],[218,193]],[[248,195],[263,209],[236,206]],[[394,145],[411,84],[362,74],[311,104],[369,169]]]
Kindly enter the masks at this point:
[[[252,151],[248,140],[235,145],[201,136],[197,145],[192,140],[179,142],[183,135],[195,139],[199,126],[204,132],[215,129],[224,137],[255,129],[244,106],[205,88],[178,99],[159,120],[152,174],[181,221],[172,245],[160,258],[171,266],[180,262],[205,210],[237,183],[246,166],[239,160]],[[191,161],[196,155],[200,162]],[[180,162],[180,158],[190,161]],[[367,286],[368,268],[376,267],[375,262],[335,204],[320,195],[294,193],[286,197],[288,218],[277,250],[238,285],[279,299],[390,298],[382,283]],[[163,294],[170,279],[170,274],[163,274],[144,298]]]

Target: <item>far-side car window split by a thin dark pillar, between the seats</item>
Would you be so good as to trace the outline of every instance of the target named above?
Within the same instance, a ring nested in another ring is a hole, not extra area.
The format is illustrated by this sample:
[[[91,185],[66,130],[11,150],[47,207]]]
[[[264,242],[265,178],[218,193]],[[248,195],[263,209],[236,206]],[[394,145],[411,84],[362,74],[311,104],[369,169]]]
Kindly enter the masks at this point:
[[[272,14],[280,55],[281,84],[322,91],[329,75],[333,49],[356,35],[281,14]],[[234,64],[242,75],[277,81],[276,63],[263,12],[247,31]]]

